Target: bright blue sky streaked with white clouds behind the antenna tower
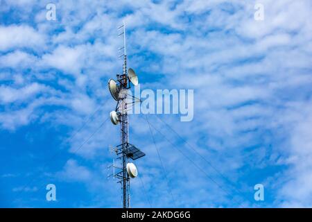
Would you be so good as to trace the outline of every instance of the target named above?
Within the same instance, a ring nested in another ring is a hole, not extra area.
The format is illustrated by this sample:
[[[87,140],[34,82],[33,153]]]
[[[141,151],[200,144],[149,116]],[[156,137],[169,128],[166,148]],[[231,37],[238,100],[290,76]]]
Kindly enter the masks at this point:
[[[131,115],[146,153],[132,207],[312,207],[311,1],[0,3],[0,207],[121,207],[106,178],[119,128],[106,121],[79,147],[115,107],[123,20],[141,89],[194,89],[193,121],[148,115],[168,184],[144,116]]]

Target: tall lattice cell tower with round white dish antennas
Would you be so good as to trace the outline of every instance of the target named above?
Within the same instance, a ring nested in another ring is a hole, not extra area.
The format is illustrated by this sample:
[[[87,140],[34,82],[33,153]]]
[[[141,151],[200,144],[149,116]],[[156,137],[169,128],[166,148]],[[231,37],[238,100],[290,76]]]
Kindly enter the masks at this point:
[[[137,147],[129,143],[129,119],[128,119],[128,105],[132,105],[135,102],[129,103],[129,99],[136,99],[134,96],[128,94],[128,89],[130,89],[131,84],[138,85],[139,80],[137,74],[133,69],[128,69],[127,71],[127,51],[125,45],[125,23],[120,26],[119,36],[123,36],[123,47],[119,50],[123,50],[123,74],[117,74],[116,80],[112,78],[108,81],[108,88],[110,89],[110,94],[114,100],[117,101],[116,109],[110,112],[110,120],[114,125],[120,123],[121,126],[121,144],[112,148],[114,153],[116,153],[117,158],[121,162],[121,166],[115,166],[115,162],[112,166],[113,169],[117,169],[117,173],[111,176],[118,179],[121,184],[121,189],[123,191],[123,208],[130,207],[130,178],[137,177],[137,167],[135,164],[130,162],[130,159],[137,160],[140,157],[144,157],[145,153],[140,151]],[[130,97],[130,98],[129,98]],[[109,168],[110,168],[109,167]]]

